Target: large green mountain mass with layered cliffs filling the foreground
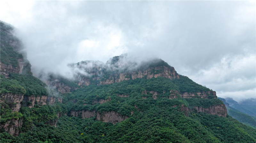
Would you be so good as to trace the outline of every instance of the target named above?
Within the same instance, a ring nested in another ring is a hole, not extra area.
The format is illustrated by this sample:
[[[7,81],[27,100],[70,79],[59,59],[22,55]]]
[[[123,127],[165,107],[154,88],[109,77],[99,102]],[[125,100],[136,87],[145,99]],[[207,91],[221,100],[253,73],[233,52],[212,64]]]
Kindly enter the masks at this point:
[[[72,79],[42,82],[12,46],[13,27],[1,25],[1,142],[256,142],[256,129],[227,115],[215,91],[161,59],[81,61],[69,64]]]

